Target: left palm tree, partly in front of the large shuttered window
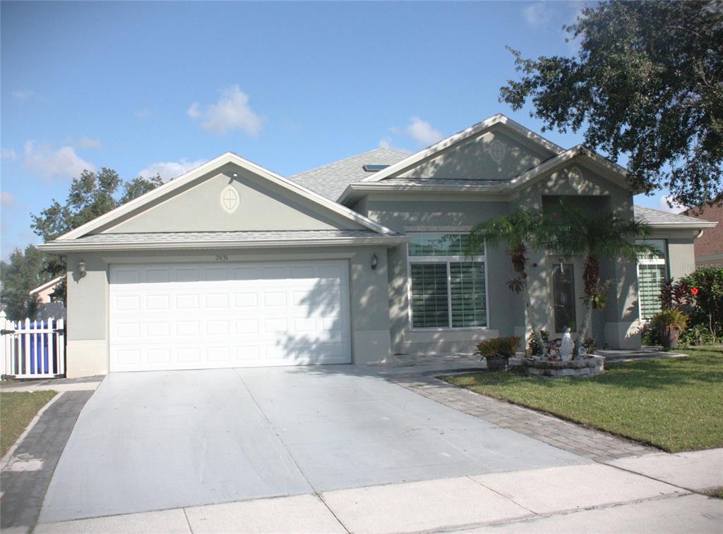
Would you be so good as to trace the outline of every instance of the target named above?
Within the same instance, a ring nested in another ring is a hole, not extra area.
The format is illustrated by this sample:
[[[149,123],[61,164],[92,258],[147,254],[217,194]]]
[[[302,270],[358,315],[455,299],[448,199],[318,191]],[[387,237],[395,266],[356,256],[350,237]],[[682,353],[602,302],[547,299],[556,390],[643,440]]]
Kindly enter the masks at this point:
[[[510,215],[500,218],[484,220],[477,223],[469,233],[464,253],[474,256],[487,246],[499,246],[502,241],[507,243],[507,253],[512,261],[515,271],[508,285],[515,293],[522,293],[525,299],[525,313],[532,329],[532,335],[539,347],[545,347],[540,329],[532,314],[532,301],[529,285],[527,283],[527,251],[529,247],[537,249],[542,228],[542,216],[534,215],[522,210],[515,210]]]

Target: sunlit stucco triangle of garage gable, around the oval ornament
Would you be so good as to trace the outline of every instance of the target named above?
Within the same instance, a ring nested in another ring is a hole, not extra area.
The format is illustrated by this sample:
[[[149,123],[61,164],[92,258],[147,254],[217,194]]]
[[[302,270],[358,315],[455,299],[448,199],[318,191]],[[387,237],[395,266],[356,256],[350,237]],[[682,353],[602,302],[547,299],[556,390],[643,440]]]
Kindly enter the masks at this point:
[[[234,174],[236,176],[234,177]],[[231,184],[239,192],[239,207],[228,214],[219,203],[221,191]],[[227,165],[153,202],[145,211],[130,214],[121,223],[102,228],[104,233],[294,231],[366,229],[325,210],[300,195]]]

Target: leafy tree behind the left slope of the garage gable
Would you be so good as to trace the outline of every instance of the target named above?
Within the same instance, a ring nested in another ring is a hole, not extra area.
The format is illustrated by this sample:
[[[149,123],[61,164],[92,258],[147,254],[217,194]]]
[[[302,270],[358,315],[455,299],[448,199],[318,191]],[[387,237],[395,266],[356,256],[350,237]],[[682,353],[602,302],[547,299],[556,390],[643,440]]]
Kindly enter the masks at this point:
[[[64,204],[53,199],[51,205],[41,211],[40,215],[31,215],[33,223],[30,227],[43,241],[52,241],[73,228],[140,197],[162,183],[163,180],[158,175],[150,178],[138,176],[122,181],[116,171],[105,167],[98,172],[82,171],[80,176],[73,178]],[[49,257],[43,264],[43,273],[50,278],[62,272],[65,272],[65,264],[57,257]],[[61,293],[60,297],[64,300],[64,288],[56,293]]]

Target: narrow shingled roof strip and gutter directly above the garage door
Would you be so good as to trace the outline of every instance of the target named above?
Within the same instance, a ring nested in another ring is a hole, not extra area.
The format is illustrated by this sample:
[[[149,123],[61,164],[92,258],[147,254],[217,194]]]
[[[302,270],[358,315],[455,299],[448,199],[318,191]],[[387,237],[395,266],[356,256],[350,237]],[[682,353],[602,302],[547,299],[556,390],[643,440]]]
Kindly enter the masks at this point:
[[[74,239],[56,239],[43,245],[48,252],[82,250],[214,249],[281,246],[330,246],[346,244],[403,243],[398,233],[380,234],[371,230],[238,231],[238,232],[150,232],[95,233]]]

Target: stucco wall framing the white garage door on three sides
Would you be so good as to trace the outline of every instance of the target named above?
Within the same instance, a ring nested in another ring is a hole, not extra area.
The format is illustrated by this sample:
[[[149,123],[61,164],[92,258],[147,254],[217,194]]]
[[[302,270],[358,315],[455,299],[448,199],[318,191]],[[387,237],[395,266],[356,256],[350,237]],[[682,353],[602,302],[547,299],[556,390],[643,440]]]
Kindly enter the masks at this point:
[[[143,251],[139,253],[82,254],[87,264],[80,278],[81,257],[68,261],[68,376],[92,376],[108,372],[108,272],[111,264],[213,262],[219,251]],[[355,363],[384,361],[390,354],[387,254],[380,246],[284,249],[278,251],[223,251],[228,262],[346,259],[349,262],[352,358]],[[377,254],[377,270],[370,267]]]

